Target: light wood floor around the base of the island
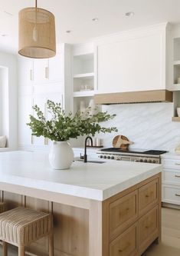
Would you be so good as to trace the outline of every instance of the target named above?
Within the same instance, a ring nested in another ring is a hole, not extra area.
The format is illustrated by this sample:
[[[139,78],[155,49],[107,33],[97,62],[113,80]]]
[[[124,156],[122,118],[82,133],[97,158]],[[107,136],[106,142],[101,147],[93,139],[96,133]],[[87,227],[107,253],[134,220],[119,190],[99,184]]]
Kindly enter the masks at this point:
[[[8,254],[17,255],[12,251]],[[180,256],[180,210],[162,208],[162,242],[152,244],[142,256]]]

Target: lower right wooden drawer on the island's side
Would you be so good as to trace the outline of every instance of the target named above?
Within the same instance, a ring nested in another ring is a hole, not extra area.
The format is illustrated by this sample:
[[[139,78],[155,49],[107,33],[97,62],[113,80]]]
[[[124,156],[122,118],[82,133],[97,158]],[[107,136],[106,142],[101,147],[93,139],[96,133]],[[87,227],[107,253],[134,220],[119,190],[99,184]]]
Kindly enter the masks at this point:
[[[139,252],[140,254],[159,235],[158,206],[152,208],[146,215],[139,219]]]

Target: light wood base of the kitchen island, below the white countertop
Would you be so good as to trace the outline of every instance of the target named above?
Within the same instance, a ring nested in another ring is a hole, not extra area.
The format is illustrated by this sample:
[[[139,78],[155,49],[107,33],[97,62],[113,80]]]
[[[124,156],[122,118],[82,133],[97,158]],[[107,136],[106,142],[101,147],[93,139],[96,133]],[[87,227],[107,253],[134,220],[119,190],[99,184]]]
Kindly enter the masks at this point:
[[[55,256],[135,256],[161,239],[161,174],[105,201],[0,182],[8,209],[23,205],[54,215]],[[46,200],[44,200],[46,199]],[[46,255],[46,238],[27,251]]]

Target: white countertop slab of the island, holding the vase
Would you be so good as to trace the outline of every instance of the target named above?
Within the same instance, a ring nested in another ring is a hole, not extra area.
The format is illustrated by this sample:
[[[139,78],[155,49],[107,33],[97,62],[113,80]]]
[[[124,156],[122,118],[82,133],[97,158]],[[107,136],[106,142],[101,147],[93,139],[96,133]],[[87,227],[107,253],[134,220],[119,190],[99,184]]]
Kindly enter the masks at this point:
[[[0,153],[0,190],[18,185],[103,201],[161,171],[162,165],[129,161],[74,161],[69,170],[53,170],[45,153],[8,151]]]

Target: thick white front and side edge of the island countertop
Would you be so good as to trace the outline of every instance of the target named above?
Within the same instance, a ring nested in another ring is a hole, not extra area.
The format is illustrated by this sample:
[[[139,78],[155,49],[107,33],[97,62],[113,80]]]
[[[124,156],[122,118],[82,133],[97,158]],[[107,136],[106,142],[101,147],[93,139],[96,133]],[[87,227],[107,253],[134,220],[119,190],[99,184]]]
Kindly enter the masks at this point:
[[[123,181],[122,183],[114,185],[111,188],[106,188],[105,190],[85,188],[77,185],[59,184],[54,181],[42,181],[33,178],[22,178],[15,175],[11,175],[11,180],[8,175],[2,175],[1,182],[7,185],[18,185],[24,188],[34,188],[59,194],[67,194],[79,198],[104,201],[107,198],[110,198],[113,195],[118,194],[119,192],[122,192],[125,189],[130,188],[133,185],[136,185],[139,182],[144,181],[147,178],[150,178],[153,175],[160,173],[161,171],[162,166],[160,165],[159,167],[146,171],[146,173],[136,176],[136,178],[129,178],[127,181]]]

